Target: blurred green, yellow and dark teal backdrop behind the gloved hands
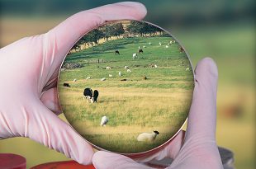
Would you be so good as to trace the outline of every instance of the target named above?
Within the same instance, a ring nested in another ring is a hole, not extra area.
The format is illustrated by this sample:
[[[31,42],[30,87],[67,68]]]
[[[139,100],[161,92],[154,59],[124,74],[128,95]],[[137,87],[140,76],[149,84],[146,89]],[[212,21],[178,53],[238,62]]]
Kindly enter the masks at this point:
[[[0,47],[24,36],[45,33],[76,12],[119,1],[0,0]],[[235,167],[255,165],[255,1],[140,0],[148,8],[145,21],[170,31],[191,56],[210,56],[219,68],[218,145],[235,153]],[[59,115],[64,119],[64,115]],[[1,128],[0,128],[1,129]],[[28,167],[67,160],[64,155],[28,138],[0,141],[0,153],[26,157]]]

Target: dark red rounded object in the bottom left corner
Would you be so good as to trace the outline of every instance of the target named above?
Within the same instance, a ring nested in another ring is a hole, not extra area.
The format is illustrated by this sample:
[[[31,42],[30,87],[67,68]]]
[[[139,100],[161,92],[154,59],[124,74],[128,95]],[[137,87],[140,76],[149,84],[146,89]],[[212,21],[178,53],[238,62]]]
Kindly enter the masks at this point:
[[[12,153],[0,153],[0,169],[26,169],[26,158]]]

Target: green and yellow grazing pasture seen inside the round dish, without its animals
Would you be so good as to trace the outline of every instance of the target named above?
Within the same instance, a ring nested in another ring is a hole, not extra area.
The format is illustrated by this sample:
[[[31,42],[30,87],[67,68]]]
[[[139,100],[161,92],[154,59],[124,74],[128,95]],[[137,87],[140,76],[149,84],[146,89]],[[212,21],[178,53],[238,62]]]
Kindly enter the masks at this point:
[[[100,148],[119,153],[144,152],[172,138],[187,118],[193,74],[187,55],[179,52],[178,43],[165,47],[170,40],[173,39],[111,40],[68,55],[64,63],[84,65],[68,69],[59,77],[60,103],[74,129]],[[144,54],[132,59],[138,46],[144,45]],[[120,55],[114,53],[115,49]],[[158,68],[151,68],[151,64]],[[107,66],[111,69],[106,69]],[[131,73],[126,72],[125,66],[129,66]],[[108,77],[109,74],[112,77]],[[102,77],[107,80],[100,81]],[[78,81],[73,82],[74,78]],[[126,82],[121,81],[124,78]],[[63,87],[64,82],[69,82],[71,87]],[[100,92],[96,104],[83,101],[86,87]],[[109,118],[107,127],[100,126],[104,115]],[[136,140],[140,133],[153,130],[160,133],[154,142]]]

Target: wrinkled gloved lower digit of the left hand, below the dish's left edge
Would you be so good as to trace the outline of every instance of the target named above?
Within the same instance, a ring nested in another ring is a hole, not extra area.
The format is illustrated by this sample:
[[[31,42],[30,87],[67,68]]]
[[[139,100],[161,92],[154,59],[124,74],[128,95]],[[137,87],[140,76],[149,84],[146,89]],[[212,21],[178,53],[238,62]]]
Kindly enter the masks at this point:
[[[40,101],[33,105],[33,107],[26,108],[29,113],[26,114],[25,137],[64,153],[79,163],[85,165],[92,163],[94,152],[92,146],[84,138]]]

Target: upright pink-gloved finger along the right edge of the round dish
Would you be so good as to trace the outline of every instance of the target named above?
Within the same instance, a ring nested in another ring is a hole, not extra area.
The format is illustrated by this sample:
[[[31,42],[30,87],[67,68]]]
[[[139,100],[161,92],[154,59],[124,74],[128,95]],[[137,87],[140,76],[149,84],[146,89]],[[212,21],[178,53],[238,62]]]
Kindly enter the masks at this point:
[[[218,70],[212,59],[205,58],[197,63],[195,81],[186,139],[215,140]]]

